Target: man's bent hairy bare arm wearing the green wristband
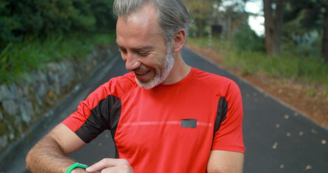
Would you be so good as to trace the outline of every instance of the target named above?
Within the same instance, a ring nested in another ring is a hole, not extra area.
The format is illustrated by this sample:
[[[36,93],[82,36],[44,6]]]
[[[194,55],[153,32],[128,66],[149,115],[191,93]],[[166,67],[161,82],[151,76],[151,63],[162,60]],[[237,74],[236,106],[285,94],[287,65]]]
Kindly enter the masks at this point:
[[[85,144],[66,125],[59,124],[29,151],[26,156],[26,167],[31,172],[65,172],[69,166],[76,163],[66,155]],[[86,171],[82,168],[75,168],[72,172]]]

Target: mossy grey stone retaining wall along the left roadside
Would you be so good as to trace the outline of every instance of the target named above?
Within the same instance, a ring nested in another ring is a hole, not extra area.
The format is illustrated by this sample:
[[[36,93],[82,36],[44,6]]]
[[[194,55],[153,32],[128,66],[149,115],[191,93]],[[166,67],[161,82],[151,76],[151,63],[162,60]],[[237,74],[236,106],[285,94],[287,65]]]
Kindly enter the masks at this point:
[[[80,61],[51,62],[17,83],[0,84],[0,153],[40,120],[105,60],[115,46],[98,48]]]

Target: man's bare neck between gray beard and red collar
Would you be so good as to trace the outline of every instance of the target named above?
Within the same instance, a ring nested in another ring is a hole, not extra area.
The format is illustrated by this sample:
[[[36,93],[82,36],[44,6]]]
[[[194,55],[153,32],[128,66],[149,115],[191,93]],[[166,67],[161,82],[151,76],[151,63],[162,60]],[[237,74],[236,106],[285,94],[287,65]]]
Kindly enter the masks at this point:
[[[174,58],[175,62],[173,68],[164,82],[161,83],[163,85],[174,84],[181,81],[191,70],[191,67],[183,61],[180,53],[174,53]]]

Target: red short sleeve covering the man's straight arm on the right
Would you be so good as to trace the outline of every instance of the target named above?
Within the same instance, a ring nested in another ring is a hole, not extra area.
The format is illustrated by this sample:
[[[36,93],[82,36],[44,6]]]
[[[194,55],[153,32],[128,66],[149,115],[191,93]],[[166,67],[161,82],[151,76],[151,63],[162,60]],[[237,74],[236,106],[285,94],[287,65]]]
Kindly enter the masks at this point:
[[[212,150],[245,153],[242,135],[243,108],[239,87],[233,81],[218,103],[218,129],[214,134]]]

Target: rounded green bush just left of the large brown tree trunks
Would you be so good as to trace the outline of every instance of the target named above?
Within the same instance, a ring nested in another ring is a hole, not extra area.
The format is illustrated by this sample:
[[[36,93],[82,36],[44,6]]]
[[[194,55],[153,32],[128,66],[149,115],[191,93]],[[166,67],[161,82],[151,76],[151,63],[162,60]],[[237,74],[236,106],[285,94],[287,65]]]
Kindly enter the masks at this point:
[[[264,37],[258,37],[249,26],[242,27],[233,38],[238,51],[265,51]]]

